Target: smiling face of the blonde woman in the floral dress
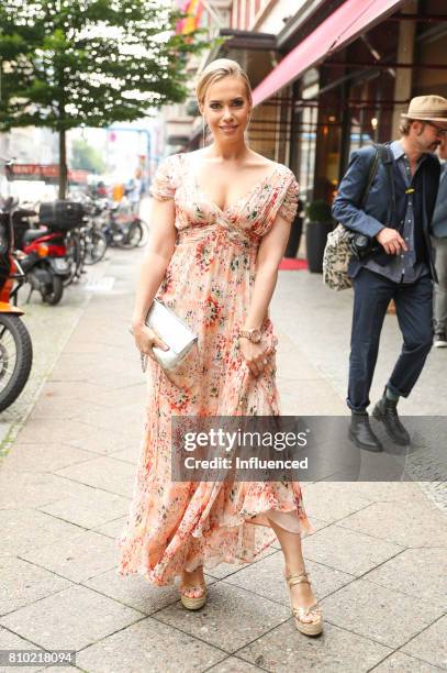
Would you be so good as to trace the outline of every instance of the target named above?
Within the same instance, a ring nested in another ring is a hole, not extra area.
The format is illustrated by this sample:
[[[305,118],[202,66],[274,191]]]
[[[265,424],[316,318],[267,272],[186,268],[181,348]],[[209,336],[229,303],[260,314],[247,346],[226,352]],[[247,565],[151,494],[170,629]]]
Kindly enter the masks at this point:
[[[252,112],[247,88],[242,77],[227,75],[211,84],[201,112],[214,140],[241,142]]]

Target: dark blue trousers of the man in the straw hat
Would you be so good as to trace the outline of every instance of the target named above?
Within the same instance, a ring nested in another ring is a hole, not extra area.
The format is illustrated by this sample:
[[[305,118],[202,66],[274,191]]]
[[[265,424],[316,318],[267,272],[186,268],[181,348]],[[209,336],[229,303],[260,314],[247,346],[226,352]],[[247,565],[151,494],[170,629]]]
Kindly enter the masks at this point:
[[[387,383],[396,395],[407,397],[416,383],[433,343],[433,282],[393,283],[362,268],[353,279],[354,316],[349,357],[347,405],[365,411],[379,353],[380,332],[388,305],[394,299],[403,336],[402,352]]]

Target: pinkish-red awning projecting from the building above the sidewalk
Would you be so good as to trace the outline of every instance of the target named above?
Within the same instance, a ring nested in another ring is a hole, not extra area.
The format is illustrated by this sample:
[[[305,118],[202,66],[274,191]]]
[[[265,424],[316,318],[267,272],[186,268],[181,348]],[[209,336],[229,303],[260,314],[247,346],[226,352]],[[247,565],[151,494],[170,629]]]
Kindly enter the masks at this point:
[[[270,98],[332,52],[395,12],[403,0],[346,0],[331,16],[294,47],[253,92],[254,104]]]

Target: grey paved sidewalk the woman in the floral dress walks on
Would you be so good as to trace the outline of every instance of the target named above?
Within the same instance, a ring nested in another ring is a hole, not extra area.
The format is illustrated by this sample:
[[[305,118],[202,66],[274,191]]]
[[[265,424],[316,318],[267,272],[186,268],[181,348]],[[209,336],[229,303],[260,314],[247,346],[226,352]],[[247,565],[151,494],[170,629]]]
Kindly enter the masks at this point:
[[[304,485],[319,639],[294,629],[276,548],[211,571],[198,614],[175,587],[116,575],[144,422],[126,331],[141,257],[112,251],[113,289],[92,296],[0,462],[0,649],[74,649],[91,673],[446,670],[446,519],[415,483]],[[284,413],[346,413],[349,301],[320,277],[281,274],[272,318]],[[392,317],[383,343],[375,395],[399,344]],[[445,363],[440,353],[428,363],[439,382]],[[424,375],[418,394],[445,413],[434,389]]]

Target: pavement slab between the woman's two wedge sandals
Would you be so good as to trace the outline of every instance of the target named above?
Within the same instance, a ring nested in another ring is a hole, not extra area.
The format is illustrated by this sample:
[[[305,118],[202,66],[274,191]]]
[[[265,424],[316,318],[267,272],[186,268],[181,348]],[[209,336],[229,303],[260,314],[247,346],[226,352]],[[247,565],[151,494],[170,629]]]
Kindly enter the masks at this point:
[[[233,653],[289,615],[290,610],[278,603],[260,596],[255,600],[252,592],[216,582],[209,587],[208,603],[200,611],[187,613],[177,603],[157,613],[157,619]]]

